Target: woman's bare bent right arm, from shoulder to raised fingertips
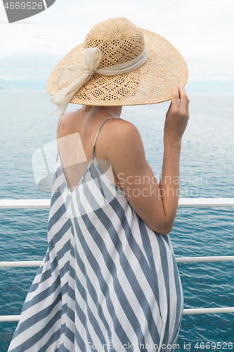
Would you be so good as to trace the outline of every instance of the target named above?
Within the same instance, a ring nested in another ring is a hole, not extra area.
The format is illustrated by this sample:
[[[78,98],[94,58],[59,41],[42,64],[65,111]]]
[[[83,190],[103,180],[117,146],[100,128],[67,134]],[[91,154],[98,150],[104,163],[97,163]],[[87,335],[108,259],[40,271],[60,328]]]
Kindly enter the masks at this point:
[[[113,121],[114,128],[109,125],[106,158],[131,206],[145,224],[158,234],[168,234],[174,225],[179,196],[181,138],[188,123],[188,105],[183,87],[174,87],[164,124],[164,159],[160,184],[146,161],[143,142],[136,126],[125,120]]]

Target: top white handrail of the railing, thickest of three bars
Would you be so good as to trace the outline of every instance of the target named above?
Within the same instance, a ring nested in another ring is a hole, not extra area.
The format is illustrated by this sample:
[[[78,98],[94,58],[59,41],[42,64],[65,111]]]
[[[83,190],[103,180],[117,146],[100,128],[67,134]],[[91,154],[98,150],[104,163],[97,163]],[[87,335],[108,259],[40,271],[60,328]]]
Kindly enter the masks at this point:
[[[49,208],[51,199],[0,199],[0,209],[16,208]],[[234,206],[234,197],[232,198],[180,198],[178,199],[179,207],[212,207]]]

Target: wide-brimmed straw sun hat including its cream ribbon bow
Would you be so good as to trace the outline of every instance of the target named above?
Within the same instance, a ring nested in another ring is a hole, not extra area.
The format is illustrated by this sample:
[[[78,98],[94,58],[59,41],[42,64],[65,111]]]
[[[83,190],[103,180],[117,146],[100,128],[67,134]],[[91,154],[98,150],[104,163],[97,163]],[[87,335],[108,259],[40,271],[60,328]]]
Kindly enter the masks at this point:
[[[46,90],[57,104],[51,115],[60,115],[68,103],[161,103],[170,100],[172,88],[176,84],[185,86],[187,79],[186,62],[171,43],[120,17],[94,25],[84,43],[75,46],[53,68]]]

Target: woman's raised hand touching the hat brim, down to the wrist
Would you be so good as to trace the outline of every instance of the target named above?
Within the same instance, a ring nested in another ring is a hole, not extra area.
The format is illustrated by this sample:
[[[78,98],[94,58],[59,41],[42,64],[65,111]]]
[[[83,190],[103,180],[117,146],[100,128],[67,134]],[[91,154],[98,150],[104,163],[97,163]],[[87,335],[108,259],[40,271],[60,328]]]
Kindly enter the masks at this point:
[[[164,123],[164,144],[181,143],[189,119],[189,99],[181,84],[175,86]]]

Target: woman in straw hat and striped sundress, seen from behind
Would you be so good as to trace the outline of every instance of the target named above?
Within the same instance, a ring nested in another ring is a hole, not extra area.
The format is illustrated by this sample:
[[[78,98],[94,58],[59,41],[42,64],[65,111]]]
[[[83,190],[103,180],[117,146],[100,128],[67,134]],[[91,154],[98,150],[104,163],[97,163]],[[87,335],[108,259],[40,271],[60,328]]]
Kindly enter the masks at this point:
[[[98,23],[56,65],[46,84],[61,115],[48,250],[8,351],[174,351],[183,290],[169,232],[186,80],[174,46],[126,18]],[[171,96],[158,184],[120,115]],[[69,102],[84,106],[65,113]]]

